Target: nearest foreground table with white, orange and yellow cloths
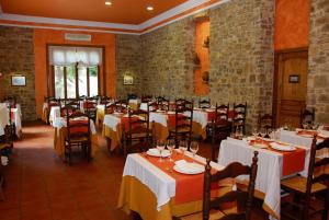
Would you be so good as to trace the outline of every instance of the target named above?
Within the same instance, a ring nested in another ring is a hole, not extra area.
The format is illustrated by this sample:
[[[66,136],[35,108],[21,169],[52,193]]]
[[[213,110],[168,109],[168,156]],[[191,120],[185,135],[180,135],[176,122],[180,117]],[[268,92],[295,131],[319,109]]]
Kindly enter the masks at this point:
[[[166,153],[161,153],[163,157]],[[120,188],[118,208],[138,212],[144,220],[171,220],[202,211],[204,165],[206,160],[186,151],[174,150],[171,159],[159,161],[157,149],[128,154]],[[186,169],[196,164],[194,171]],[[212,172],[224,166],[211,162]],[[183,169],[185,167],[185,169]],[[212,186],[212,195],[232,190],[231,180]],[[143,202],[141,200],[143,199]],[[234,211],[235,209],[230,209]]]

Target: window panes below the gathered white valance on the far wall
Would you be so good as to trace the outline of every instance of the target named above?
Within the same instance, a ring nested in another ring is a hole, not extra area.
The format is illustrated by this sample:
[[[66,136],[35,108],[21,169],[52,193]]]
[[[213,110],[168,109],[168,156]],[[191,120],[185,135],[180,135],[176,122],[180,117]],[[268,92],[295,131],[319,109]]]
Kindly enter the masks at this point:
[[[99,67],[54,66],[55,97],[76,99],[99,94]]]

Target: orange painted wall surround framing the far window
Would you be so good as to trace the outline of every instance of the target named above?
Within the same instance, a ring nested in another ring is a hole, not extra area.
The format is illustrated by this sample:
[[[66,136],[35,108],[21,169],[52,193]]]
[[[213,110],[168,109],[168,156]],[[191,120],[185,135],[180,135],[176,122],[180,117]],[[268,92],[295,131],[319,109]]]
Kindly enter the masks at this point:
[[[71,31],[70,31],[71,32]],[[66,40],[68,31],[34,30],[35,101],[37,116],[42,115],[44,97],[47,96],[47,45],[88,45],[104,48],[103,60],[106,76],[106,95],[115,96],[115,35],[107,33],[75,32],[90,34],[91,42]],[[103,70],[101,70],[102,72]],[[101,83],[102,84],[102,83]]]

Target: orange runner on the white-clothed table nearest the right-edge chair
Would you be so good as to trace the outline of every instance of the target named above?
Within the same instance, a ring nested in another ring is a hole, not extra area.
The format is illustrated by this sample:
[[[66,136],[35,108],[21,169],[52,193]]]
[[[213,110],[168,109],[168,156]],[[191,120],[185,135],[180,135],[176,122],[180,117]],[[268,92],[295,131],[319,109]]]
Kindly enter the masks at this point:
[[[260,142],[259,142],[260,141]],[[306,151],[302,148],[296,148],[294,151],[280,151],[270,147],[272,141],[258,140],[258,143],[266,144],[266,150],[274,151],[281,153],[283,155],[283,164],[282,164],[282,176],[291,175],[294,173],[302,172],[305,165],[305,157]],[[254,140],[250,141],[249,144],[253,146],[256,143]],[[280,143],[283,144],[283,143]]]

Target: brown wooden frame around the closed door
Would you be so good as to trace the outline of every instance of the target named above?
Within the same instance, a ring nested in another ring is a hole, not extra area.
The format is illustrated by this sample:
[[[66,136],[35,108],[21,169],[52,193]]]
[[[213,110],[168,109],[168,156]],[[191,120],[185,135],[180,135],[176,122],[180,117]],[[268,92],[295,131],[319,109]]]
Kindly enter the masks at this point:
[[[307,57],[308,57],[308,47],[299,47],[299,48],[293,48],[293,49],[282,49],[282,50],[276,50],[274,51],[274,76],[273,76],[273,103],[272,103],[272,113],[273,113],[273,118],[275,121],[275,127],[277,127],[279,125],[279,106],[277,106],[277,101],[279,97],[281,96],[281,94],[279,94],[279,89],[281,86],[281,84],[279,83],[280,80],[280,59],[282,57],[282,55],[285,54],[291,54],[291,53],[306,53]]]

